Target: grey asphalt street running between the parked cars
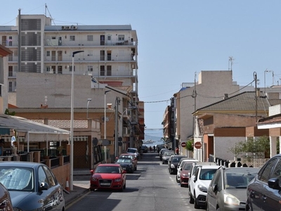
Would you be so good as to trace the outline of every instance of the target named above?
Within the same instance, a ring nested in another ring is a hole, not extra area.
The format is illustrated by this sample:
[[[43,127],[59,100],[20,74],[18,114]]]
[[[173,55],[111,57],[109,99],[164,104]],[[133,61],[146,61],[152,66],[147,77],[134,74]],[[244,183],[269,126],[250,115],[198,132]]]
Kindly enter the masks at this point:
[[[89,181],[89,176],[84,177]],[[83,176],[81,176],[83,179]],[[86,182],[85,181],[85,182]],[[145,153],[138,160],[138,170],[127,174],[126,189],[118,191],[90,191],[79,198],[67,211],[193,211],[189,203],[188,188],[176,183],[167,165],[162,165],[157,153]]]

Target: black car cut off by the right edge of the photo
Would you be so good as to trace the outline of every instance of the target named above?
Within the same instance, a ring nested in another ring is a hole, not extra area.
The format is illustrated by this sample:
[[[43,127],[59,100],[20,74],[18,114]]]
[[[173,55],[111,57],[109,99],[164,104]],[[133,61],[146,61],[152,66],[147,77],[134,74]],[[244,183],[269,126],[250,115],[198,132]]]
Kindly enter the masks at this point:
[[[281,154],[270,158],[247,186],[246,210],[281,210]]]

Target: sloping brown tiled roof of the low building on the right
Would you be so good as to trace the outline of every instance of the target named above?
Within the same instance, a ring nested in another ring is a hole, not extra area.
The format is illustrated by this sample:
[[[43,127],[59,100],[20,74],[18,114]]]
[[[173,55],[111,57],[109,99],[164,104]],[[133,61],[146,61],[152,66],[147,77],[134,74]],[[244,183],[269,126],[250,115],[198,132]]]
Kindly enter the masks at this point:
[[[216,103],[212,103],[208,106],[199,108],[196,110],[195,113],[202,113],[202,112],[216,112],[220,110],[230,111],[230,110],[248,110],[253,111],[256,110],[268,110],[270,107],[270,103],[268,98],[263,94],[260,93],[260,96],[257,97],[257,103],[255,101],[256,92],[255,91],[245,91],[235,96],[226,98],[222,101],[218,101]],[[193,113],[193,114],[195,114]]]

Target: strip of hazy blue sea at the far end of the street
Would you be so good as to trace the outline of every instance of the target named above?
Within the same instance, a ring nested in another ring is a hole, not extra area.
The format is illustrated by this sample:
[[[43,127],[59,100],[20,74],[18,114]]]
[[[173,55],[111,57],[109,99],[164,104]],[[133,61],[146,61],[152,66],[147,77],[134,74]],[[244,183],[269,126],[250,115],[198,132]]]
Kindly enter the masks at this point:
[[[158,144],[163,144],[163,129],[145,129],[145,140],[143,140],[143,145],[145,146],[155,146]]]

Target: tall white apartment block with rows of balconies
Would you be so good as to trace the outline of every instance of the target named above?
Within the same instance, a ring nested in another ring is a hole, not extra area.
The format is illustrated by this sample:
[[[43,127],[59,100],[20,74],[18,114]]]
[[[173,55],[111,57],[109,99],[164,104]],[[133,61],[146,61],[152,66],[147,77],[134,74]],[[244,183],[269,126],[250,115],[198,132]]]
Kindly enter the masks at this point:
[[[8,57],[8,92],[17,72],[91,75],[113,86],[131,87],[138,98],[138,37],[131,25],[51,25],[45,15],[18,15],[15,26],[0,26]],[[12,96],[12,95],[11,95]]]

